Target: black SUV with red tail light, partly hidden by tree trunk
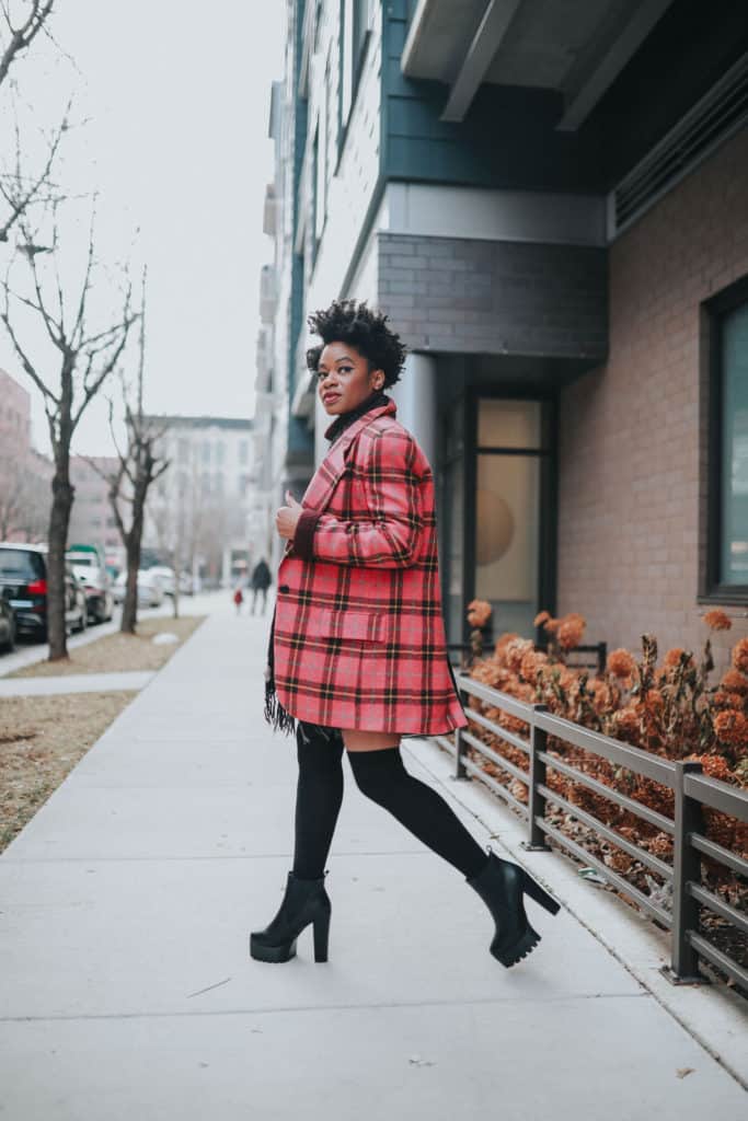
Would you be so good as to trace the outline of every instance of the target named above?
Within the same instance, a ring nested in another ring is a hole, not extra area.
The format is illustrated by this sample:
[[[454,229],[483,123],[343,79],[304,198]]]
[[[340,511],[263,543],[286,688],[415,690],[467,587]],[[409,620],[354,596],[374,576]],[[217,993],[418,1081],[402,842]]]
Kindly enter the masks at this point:
[[[16,618],[16,633],[46,641],[47,546],[0,541],[0,595]],[[70,562],[65,562],[65,626],[85,630],[85,591]]]

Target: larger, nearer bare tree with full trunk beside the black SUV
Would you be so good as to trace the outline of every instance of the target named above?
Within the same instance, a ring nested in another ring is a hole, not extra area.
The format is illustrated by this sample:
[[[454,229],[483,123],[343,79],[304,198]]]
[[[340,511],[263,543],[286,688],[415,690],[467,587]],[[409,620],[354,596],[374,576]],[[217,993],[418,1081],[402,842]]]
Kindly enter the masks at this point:
[[[26,219],[20,220],[22,242],[1,281],[4,302],[0,308],[0,318],[20,364],[41,393],[55,465],[48,535],[47,623],[50,661],[67,656],[64,578],[65,546],[74,497],[70,478],[71,443],[81,417],[114,370],[124,350],[130,327],[137,318],[130,307],[131,286],[124,270],[122,309],[116,322],[100,331],[89,326],[89,298],[98,266],[94,252],[95,205],[91,214],[83,276],[76,286],[75,299],[66,299],[59,270],[58,209],[57,204],[52,207],[49,247],[40,244],[41,235],[38,230],[33,231]],[[11,276],[19,257],[26,259],[29,270],[26,295],[11,287]],[[37,257],[41,257],[46,265],[37,263]],[[53,353],[56,352],[55,374],[47,373],[46,354],[40,346],[34,353],[21,341],[17,321],[22,309],[27,316],[30,313],[35,325],[40,321],[47,342],[52,344]]]

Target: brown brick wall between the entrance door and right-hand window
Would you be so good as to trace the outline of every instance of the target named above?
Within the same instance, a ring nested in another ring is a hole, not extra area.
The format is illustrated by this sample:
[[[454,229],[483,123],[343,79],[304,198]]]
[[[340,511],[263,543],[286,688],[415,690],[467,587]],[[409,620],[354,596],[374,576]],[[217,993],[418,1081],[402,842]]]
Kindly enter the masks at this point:
[[[701,648],[707,365],[700,303],[748,274],[748,135],[610,248],[610,354],[562,391],[558,610],[589,639]],[[735,617],[746,605],[726,608]],[[718,667],[748,620],[717,633]]]

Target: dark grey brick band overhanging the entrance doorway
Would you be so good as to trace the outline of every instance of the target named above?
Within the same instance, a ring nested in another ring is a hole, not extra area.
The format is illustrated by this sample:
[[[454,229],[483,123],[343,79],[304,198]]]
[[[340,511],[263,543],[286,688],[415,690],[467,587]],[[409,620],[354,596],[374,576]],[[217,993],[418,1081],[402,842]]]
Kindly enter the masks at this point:
[[[379,302],[414,350],[607,353],[606,250],[379,233]]]

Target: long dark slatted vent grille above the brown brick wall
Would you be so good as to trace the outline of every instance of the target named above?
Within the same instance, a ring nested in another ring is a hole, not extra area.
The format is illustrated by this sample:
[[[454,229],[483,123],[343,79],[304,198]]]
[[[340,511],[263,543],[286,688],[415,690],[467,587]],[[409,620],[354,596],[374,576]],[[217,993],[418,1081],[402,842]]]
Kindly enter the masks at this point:
[[[748,54],[612,192],[612,233],[657,201],[718,143],[748,123]]]

